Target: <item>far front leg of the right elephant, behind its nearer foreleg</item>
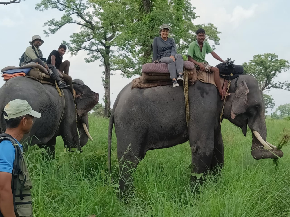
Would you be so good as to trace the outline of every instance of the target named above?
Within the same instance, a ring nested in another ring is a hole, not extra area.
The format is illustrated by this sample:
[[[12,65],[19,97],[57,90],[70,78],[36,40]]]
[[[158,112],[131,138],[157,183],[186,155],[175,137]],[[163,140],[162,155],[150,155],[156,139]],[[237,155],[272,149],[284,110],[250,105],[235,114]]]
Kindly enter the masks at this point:
[[[215,129],[214,135],[214,149],[213,157],[211,159],[211,169],[214,172],[219,172],[219,170],[224,165],[224,143],[222,141],[222,133],[220,127]]]

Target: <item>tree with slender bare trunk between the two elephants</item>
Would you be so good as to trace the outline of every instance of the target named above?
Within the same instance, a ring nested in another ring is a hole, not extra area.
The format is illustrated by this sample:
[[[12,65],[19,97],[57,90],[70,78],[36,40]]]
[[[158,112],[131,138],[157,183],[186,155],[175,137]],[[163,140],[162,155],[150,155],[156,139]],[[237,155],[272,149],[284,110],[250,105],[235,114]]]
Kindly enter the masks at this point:
[[[117,37],[120,27],[124,23],[123,14],[126,14],[126,2],[122,0],[42,0],[36,5],[36,10],[58,9],[64,12],[60,20],[54,18],[47,21],[48,31],[46,36],[54,34],[64,25],[79,25],[80,31],[70,36],[70,43],[63,41],[68,46],[71,55],[79,51],[88,52],[87,63],[101,60],[105,68],[103,85],[105,89],[105,116],[109,117],[110,108],[110,61],[113,54],[113,39]],[[126,17],[126,16],[124,16]]]

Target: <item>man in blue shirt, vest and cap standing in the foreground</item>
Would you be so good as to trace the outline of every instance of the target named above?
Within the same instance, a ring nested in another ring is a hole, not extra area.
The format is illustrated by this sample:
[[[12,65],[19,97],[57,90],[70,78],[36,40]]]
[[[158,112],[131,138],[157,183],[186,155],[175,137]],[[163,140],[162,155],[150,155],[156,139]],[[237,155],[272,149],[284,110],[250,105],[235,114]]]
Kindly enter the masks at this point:
[[[0,216],[32,217],[32,183],[19,142],[30,132],[33,118],[41,114],[26,100],[13,100],[5,106],[3,116],[6,132],[0,134]]]

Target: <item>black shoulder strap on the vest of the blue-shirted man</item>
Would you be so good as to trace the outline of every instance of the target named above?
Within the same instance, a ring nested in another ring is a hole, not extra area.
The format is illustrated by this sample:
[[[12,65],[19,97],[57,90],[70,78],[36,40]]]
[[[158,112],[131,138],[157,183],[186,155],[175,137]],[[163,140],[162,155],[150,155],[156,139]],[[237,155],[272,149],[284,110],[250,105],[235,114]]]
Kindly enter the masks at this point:
[[[16,212],[16,206],[15,206],[15,194],[16,194],[16,188],[14,187],[14,180],[18,177],[19,173],[22,173],[21,168],[20,168],[20,160],[23,159],[21,155],[21,149],[18,145],[18,142],[9,134],[7,133],[2,133],[0,134],[0,142],[3,140],[9,140],[14,148],[15,148],[15,160],[13,163],[13,170],[12,170],[12,180],[11,180],[11,189],[13,192],[13,205],[14,205],[14,212]],[[25,181],[23,182],[25,183]],[[22,190],[20,192],[20,196],[22,196]]]

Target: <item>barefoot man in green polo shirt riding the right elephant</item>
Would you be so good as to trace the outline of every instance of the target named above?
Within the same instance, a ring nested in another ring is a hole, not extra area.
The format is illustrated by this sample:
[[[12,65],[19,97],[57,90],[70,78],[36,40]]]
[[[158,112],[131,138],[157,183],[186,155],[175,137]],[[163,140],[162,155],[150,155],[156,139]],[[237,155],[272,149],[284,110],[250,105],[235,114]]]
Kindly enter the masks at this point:
[[[205,30],[204,29],[198,29],[196,31],[196,41],[193,41],[189,45],[188,52],[186,56],[188,56],[188,60],[193,62],[195,64],[195,67],[197,70],[207,72],[207,73],[215,73],[214,74],[214,80],[215,84],[218,87],[218,91],[220,93],[220,96],[222,95],[222,87],[220,85],[220,71],[217,67],[213,67],[208,65],[208,62],[205,61],[205,54],[211,53],[213,57],[221,62],[225,62],[216,54],[209,43],[205,41]]]

